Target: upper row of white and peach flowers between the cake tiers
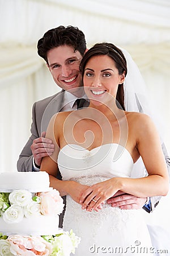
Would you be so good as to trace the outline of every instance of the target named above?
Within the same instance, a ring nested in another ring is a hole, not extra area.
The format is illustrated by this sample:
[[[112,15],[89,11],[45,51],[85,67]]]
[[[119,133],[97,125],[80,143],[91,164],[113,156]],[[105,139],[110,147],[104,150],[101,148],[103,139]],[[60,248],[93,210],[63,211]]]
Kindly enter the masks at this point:
[[[0,193],[0,217],[8,224],[18,223],[23,217],[59,215],[63,207],[63,199],[56,189],[36,194],[24,189]]]

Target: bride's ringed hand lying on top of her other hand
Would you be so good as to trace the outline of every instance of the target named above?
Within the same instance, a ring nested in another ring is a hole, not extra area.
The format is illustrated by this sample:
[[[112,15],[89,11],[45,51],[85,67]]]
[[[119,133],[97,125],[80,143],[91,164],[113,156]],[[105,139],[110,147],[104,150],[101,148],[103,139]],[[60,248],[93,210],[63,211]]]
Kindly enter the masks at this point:
[[[112,197],[118,190],[120,190],[118,178],[112,178],[88,187],[80,198],[82,209],[96,209],[105,200]]]

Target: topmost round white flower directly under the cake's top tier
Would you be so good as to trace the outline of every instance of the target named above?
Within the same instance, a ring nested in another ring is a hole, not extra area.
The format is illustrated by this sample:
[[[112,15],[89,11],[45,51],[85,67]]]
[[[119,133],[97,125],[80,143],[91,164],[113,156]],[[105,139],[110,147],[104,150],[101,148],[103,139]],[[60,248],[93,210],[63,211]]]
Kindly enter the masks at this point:
[[[21,207],[25,207],[32,201],[32,194],[24,189],[15,190],[10,193],[9,200],[11,204],[17,204]]]

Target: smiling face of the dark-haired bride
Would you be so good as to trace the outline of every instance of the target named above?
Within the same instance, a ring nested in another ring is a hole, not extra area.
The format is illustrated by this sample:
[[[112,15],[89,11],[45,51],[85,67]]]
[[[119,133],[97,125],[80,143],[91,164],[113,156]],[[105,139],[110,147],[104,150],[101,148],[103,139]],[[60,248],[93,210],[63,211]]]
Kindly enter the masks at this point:
[[[87,97],[94,105],[116,98],[118,84],[125,76],[118,74],[114,60],[107,55],[91,57],[84,69],[83,84]]]

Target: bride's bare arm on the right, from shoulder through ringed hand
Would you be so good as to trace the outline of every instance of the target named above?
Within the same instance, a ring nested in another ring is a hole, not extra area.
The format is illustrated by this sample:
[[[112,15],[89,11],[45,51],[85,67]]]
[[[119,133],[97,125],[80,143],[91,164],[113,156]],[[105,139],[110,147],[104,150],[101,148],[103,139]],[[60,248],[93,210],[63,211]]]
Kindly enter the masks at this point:
[[[95,208],[118,190],[137,197],[167,195],[169,188],[167,166],[158,132],[150,117],[145,114],[140,115],[138,122],[135,123],[134,134],[137,136],[136,147],[142,156],[148,176],[138,179],[115,177],[97,183],[83,193],[80,200],[80,203],[84,202],[83,208],[86,208],[92,199],[97,203],[92,201],[88,209]]]

